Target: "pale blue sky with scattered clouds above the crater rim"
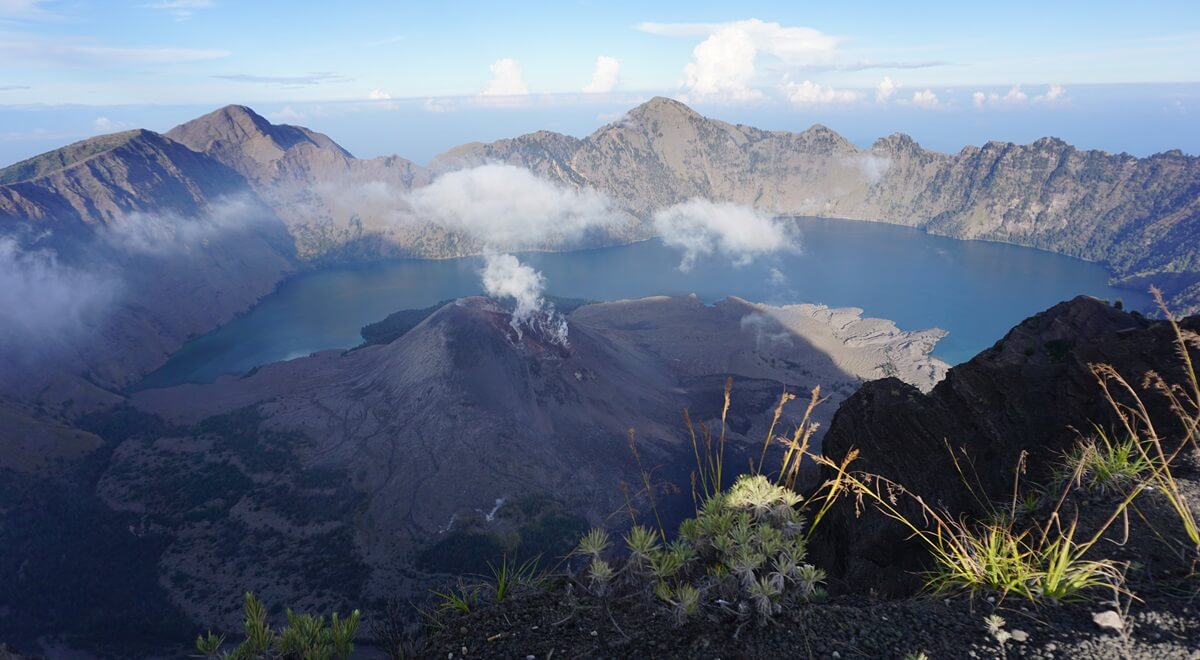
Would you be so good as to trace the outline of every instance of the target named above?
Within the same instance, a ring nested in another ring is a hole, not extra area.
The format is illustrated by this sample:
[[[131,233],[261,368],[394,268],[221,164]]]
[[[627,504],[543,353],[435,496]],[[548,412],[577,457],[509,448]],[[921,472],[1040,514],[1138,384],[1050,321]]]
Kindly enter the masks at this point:
[[[0,161],[226,103],[425,161],[655,94],[955,150],[1200,151],[1200,2],[0,0]]]

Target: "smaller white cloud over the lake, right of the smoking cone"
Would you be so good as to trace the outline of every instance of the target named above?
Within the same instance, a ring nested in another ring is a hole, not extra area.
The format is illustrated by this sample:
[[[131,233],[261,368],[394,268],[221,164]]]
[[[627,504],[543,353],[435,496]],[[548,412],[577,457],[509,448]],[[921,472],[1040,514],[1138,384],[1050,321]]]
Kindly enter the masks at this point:
[[[684,272],[700,257],[712,254],[745,265],[763,254],[799,250],[799,236],[786,220],[752,206],[700,198],[655,212],[654,230],[662,242],[683,251],[679,270]]]

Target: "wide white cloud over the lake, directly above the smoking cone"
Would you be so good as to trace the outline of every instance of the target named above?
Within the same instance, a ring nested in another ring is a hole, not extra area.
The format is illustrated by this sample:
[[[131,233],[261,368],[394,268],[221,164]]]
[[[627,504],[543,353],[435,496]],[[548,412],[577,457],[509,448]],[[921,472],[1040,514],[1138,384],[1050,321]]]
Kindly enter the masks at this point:
[[[570,244],[619,220],[606,197],[552,184],[528,169],[485,164],[443,174],[408,197],[416,218],[494,250]]]

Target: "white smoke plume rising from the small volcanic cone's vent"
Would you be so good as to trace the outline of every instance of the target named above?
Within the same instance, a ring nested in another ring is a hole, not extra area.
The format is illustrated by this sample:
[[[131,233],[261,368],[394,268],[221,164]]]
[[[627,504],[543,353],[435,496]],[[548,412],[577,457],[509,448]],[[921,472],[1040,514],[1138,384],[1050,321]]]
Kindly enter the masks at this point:
[[[542,298],[546,278],[541,272],[522,264],[512,254],[491,254],[484,262],[480,278],[487,295],[511,299],[516,304],[511,325],[517,337],[522,337],[522,329],[528,328],[553,343],[568,346],[566,319]]]

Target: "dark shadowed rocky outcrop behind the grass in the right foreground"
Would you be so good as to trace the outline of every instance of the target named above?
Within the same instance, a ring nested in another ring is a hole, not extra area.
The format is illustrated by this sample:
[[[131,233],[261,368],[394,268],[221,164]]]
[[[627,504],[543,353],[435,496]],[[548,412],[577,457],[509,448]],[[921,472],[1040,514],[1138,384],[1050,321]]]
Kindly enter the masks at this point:
[[[1200,317],[1183,326],[1200,331]],[[977,497],[1012,497],[1022,452],[1028,461],[1021,480],[1045,482],[1080,434],[1093,425],[1112,428],[1112,410],[1088,365],[1112,365],[1138,386],[1150,371],[1183,383],[1180,362],[1165,322],[1080,296],[1026,319],[953,367],[928,395],[895,378],[865,384],[834,415],[824,454],[840,462],[858,450],[854,469],[901,484],[950,517],[978,516]],[[1152,412],[1164,415],[1157,419],[1172,419],[1162,396],[1145,394]],[[974,493],[958,476],[952,451]],[[900,504],[911,520],[922,520],[911,503]],[[892,593],[919,586],[914,574],[925,568],[926,554],[900,524],[869,505],[856,511],[853,502],[838,504],[821,524],[814,552],[834,584]]]

